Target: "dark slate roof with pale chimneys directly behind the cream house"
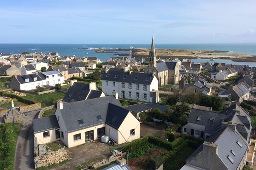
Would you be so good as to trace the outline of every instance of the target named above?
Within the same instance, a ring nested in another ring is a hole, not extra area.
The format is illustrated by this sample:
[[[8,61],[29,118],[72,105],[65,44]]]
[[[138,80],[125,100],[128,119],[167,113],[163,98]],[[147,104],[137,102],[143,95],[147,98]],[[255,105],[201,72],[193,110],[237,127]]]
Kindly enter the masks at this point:
[[[87,97],[87,99],[94,99],[99,97],[102,93],[102,91],[95,90],[92,90],[90,92],[89,84],[74,82],[73,86],[71,86],[65,94],[63,101],[76,102],[80,100],[85,100],[88,95],[89,96]]]

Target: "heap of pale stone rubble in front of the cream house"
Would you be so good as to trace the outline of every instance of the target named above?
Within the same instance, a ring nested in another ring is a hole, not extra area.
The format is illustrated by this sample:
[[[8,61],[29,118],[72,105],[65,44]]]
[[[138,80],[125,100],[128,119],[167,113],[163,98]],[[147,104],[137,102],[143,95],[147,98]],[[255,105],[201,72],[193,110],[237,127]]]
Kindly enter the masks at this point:
[[[35,157],[36,167],[48,166],[51,164],[58,164],[62,161],[69,160],[70,156],[65,150],[65,147],[56,151],[48,150],[44,155]]]

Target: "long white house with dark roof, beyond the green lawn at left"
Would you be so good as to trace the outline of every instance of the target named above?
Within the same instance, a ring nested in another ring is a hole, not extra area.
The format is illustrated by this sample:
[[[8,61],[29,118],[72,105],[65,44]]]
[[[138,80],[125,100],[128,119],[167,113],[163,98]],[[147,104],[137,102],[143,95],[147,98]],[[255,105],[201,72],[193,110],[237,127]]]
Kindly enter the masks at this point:
[[[10,87],[14,90],[33,90],[37,86],[62,84],[64,82],[63,75],[58,71],[46,71],[38,74],[27,74],[15,76],[10,81]]]

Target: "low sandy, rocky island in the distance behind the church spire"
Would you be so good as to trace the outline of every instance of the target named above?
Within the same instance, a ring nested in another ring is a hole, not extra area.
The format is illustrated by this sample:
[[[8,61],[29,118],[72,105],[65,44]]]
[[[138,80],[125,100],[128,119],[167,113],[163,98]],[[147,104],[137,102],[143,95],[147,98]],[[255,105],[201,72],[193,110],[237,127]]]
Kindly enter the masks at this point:
[[[122,51],[130,51],[130,48],[116,48],[116,49],[92,49],[96,53],[113,53],[118,56],[129,56],[129,53],[122,53]],[[231,59],[236,62],[256,62],[256,56],[248,54],[233,54],[230,51],[219,50],[183,50],[183,49],[156,49],[157,57],[161,59],[179,58],[179,59]],[[133,48],[133,57],[148,56],[149,48]]]

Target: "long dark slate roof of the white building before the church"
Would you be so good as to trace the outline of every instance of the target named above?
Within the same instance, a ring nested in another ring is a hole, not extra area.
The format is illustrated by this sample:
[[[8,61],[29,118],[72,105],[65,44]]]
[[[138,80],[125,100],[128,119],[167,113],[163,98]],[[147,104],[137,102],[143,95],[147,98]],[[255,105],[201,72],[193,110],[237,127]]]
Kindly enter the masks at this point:
[[[137,79],[135,79],[136,77]],[[152,76],[152,74],[147,74],[147,73],[129,74],[128,72],[124,72],[124,71],[108,71],[107,73],[102,74],[102,80],[114,81],[114,82],[128,82],[128,83],[136,83],[136,84],[144,84],[144,85],[150,85],[153,78],[154,76]]]

